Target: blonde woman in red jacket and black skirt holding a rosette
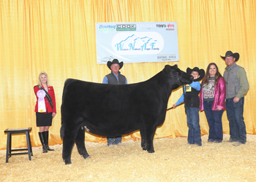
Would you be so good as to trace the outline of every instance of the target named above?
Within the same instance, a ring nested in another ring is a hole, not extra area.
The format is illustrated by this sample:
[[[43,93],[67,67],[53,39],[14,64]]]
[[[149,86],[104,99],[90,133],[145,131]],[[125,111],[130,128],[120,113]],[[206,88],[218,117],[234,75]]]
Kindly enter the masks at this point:
[[[56,115],[56,100],[53,86],[50,86],[48,74],[45,71],[41,71],[38,76],[38,85],[34,86],[34,94],[37,96],[37,104],[34,111],[37,116],[42,152],[54,151],[48,146],[48,130],[52,125],[53,117]]]

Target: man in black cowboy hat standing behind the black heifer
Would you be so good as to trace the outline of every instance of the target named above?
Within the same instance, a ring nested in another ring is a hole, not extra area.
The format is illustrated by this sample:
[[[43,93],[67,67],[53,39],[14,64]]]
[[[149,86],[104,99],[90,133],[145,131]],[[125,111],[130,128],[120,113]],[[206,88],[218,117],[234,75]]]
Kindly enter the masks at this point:
[[[103,79],[103,84],[127,84],[127,78],[124,75],[120,74],[120,69],[123,67],[123,62],[119,63],[117,59],[108,61],[107,66],[110,68],[111,73],[106,75]],[[124,143],[121,143],[121,136],[108,138],[108,146],[110,149],[113,149],[113,145],[125,146]]]

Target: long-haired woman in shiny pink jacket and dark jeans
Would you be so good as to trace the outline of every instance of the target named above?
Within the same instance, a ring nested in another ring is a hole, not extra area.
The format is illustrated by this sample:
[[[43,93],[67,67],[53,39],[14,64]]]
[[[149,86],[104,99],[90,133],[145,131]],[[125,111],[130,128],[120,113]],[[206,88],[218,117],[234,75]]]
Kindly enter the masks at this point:
[[[223,140],[222,114],[225,110],[226,83],[215,63],[207,67],[200,91],[200,111],[205,111],[209,124],[208,143]]]

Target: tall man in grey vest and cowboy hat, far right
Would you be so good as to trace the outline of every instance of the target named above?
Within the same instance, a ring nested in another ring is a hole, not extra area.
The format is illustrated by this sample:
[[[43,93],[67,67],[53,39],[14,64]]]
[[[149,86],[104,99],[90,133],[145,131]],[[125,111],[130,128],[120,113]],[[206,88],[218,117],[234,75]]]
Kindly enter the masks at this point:
[[[239,54],[227,51],[225,56],[223,77],[226,84],[226,110],[227,119],[230,122],[230,139],[226,142],[236,142],[233,146],[240,146],[246,143],[246,127],[244,124],[244,95],[249,90],[249,82],[246,71],[235,62],[239,59]]]

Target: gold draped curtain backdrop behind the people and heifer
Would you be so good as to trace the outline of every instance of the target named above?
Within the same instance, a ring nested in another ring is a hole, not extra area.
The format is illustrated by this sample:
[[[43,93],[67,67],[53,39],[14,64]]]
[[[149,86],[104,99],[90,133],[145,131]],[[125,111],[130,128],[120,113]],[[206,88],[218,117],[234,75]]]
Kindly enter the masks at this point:
[[[61,97],[67,78],[101,83],[110,73],[97,64],[95,23],[163,22],[178,25],[179,62],[124,63],[121,74],[128,84],[143,82],[166,64],[181,70],[195,66],[206,70],[217,63],[223,74],[225,61],[219,55],[239,52],[238,65],[245,68],[250,89],[245,97],[246,132],[255,134],[255,0],[1,0],[0,1],[0,149],[6,149],[7,128],[32,127],[31,144],[41,146],[36,126],[33,87],[40,71],[48,73],[56,94],[57,114],[50,127],[49,144],[61,144]],[[181,88],[173,90],[168,106],[176,103]],[[229,133],[226,112],[223,132]],[[200,112],[202,135],[208,134],[204,112]],[[154,138],[187,137],[184,105],[167,111],[164,124]],[[140,133],[123,141],[140,140]],[[86,132],[86,141],[106,143],[106,138]],[[13,147],[26,146],[25,135],[12,138]]]

